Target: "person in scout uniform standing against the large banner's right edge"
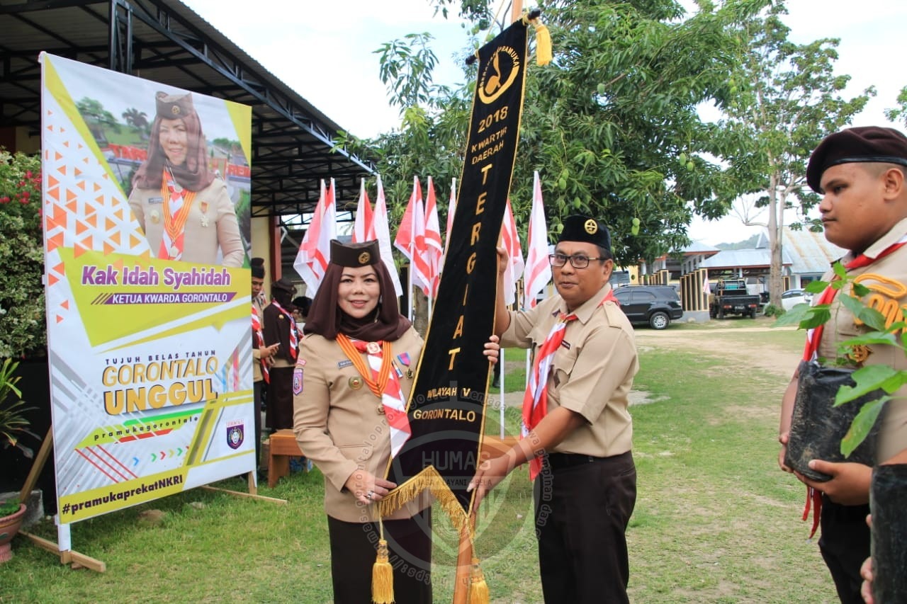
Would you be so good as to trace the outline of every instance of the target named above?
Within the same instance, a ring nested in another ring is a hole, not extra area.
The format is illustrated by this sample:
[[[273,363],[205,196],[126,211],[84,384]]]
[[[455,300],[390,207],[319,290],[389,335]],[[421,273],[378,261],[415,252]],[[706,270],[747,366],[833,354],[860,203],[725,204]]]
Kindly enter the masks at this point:
[[[298,355],[296,321],[290,313],[290,300],[296,287],[286,277],[271,284],[271,303],[264,310],[265,341],[278,344],[271,356],[268,383],[268,412],[271,430],[293,427],[293,366]]]

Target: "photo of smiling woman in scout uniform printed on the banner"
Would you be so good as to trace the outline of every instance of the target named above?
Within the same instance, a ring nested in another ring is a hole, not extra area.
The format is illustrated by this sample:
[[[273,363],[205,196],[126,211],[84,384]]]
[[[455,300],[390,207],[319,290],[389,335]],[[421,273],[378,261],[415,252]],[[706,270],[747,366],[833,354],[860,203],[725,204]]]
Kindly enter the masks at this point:
[[[190,93],[155,95],[148,159],[129,205],[157,258],[240,267],[239,223],[227,185],[208,166],[208,145]]]

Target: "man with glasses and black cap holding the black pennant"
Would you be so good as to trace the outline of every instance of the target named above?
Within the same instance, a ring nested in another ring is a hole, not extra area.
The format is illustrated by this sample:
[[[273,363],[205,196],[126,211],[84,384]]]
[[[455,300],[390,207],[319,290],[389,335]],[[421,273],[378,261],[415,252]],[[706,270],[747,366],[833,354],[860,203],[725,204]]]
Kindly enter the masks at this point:
[[[499,249],[502,291],[506,252]],[[523,438],[483,463],[470,483],[475,504],[508,472],[530,462],[546,602],[629,601],[624,532],[636,502],[630,453],[630,386],[639,369],[633,328],[608,282],[614,260],[598,220],[564,220],[551,262],[557,296],[509,312],[498,296],[501,346],[532,346]]]

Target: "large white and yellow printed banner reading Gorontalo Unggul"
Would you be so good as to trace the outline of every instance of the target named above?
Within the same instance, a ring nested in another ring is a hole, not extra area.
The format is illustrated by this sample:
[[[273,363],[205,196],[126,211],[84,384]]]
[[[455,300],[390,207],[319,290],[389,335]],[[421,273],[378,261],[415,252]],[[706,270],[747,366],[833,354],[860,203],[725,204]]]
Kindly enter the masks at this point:
[[[255,469],[251,109],[42,54],[60,522]]]

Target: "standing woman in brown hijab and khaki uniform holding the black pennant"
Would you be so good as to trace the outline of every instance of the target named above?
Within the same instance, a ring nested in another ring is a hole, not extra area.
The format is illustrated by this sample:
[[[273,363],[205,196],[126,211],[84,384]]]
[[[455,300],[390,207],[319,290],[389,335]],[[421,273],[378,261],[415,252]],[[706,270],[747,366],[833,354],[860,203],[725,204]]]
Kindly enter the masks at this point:
[[[306,322],[293,375],[297,442],[325,476],[336,604],[372,601],[381,538],[373,503],[396,485],[382,478],[395,447],[423,340],[397,310],[377,241],[331,241],[331,260]],[[497,361],[497,338],[485,355]],[[397,604],[432,602],[431,500],[383,521]]]

